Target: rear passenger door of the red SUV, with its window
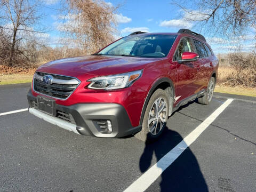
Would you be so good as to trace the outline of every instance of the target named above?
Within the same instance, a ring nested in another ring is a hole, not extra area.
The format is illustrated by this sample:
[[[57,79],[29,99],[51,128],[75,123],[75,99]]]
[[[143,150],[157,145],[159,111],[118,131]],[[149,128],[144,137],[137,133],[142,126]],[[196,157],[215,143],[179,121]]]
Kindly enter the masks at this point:
[[[209,71],[207,71],[207,67],[210,66],[210,60],[208,58],[208,54],[205,50],[204,44],[196,39],[193,39],[195,50],[199,55],[197,61],[195,61],[195,65],[197,67],[197,77],[195,83],[198,85],[196,92],[200,90],[206,89],[209,77]]]

